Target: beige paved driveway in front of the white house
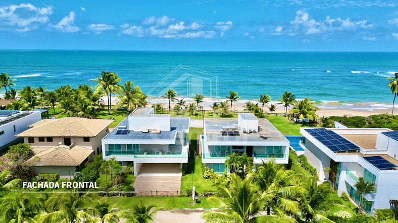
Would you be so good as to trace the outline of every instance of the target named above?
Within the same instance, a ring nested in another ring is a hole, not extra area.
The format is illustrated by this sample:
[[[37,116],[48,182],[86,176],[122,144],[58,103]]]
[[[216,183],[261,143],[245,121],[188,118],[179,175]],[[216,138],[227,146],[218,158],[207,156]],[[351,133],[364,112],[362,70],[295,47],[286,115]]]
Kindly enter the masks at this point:
[[[135,191],[180,191],[181,164],[142,164],[134,181]]]

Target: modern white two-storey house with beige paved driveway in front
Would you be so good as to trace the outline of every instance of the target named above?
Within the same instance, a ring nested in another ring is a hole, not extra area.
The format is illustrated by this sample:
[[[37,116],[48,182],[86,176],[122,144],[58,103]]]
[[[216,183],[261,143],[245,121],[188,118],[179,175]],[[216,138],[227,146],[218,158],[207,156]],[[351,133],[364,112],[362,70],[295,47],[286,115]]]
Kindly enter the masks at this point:
[[[136,108],[102,139],[104,160],[115,158],[123,166],[134,162],[134,176],[142,165],[145,171],[177,167],[180,174],[182,164],[188,163],[189,121],[155,114],[154,108]]]

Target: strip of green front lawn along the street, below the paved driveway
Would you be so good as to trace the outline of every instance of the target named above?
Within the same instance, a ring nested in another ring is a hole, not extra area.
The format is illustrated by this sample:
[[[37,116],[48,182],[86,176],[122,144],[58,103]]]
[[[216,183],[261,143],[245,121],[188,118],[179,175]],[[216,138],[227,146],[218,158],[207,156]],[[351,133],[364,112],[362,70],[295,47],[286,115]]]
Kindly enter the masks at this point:
[[[110,197],[109,199],[118,208],[131,208],[131,205],[139,201],[145,204],[155,204],[157,207],[165,209],[215,207],[215,204],[207,201],[207,197],[201,197],[199,199],[201,203],[193,202],[191,197]]]

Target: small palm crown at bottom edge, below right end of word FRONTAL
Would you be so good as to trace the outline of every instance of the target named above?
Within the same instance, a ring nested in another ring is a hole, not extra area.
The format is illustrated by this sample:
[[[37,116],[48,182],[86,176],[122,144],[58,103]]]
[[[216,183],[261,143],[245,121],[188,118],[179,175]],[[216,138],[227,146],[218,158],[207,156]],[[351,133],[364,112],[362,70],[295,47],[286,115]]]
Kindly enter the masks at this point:
[[[114,207],[115,204],[107,198],[96,199],[92,206],[87,208],[87,213],[100,218],[102,223],[119,223],[119,210]]]

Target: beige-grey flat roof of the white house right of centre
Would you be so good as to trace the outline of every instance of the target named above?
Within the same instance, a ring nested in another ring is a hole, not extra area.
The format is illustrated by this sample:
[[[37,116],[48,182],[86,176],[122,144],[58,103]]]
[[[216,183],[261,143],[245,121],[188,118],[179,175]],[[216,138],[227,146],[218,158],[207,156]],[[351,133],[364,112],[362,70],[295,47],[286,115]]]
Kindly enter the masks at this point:
[[[235,127],[237,118],[205,118],[206,137],[208,141],[288,141],[267,119],[259,118],[262,130],[257,133],[243,133],[238,136],[222,135],[223,127]]]

